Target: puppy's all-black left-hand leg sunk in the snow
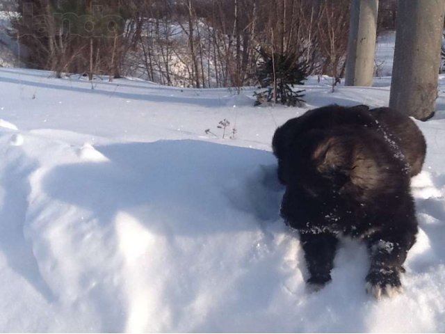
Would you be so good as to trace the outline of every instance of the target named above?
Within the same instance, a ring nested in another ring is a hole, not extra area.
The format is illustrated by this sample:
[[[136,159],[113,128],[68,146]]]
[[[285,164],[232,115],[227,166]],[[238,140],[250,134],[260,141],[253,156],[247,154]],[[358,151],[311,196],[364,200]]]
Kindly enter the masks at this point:
[[[309,289],[321,289],[331,280],[331,269],[338,239],[330,232],[312,233],[301,232],[300,241],[305,251],[307,269],[309,270]]]

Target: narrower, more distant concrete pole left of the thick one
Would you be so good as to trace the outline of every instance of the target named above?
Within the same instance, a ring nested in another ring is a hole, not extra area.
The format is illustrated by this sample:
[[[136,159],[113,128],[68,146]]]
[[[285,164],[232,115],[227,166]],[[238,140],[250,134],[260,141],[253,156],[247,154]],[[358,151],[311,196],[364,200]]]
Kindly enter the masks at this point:
[[[351,0],[346,86],[371,86],[378,0]]]

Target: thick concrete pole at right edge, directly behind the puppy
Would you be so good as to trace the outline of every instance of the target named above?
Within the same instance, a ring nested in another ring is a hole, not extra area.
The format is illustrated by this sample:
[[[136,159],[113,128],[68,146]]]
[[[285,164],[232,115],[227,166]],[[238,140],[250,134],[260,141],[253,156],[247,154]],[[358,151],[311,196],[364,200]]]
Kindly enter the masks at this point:
[[[389,106],[427,120],[434,116],[445,0],[398,0]]]

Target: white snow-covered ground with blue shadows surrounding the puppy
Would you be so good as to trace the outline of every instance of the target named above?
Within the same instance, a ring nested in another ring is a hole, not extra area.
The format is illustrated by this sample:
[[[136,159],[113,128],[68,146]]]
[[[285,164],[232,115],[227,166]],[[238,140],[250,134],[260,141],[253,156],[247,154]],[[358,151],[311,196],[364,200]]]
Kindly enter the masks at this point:
[[[0,331],[444,332],[445,77],[418,122],[428,155],[403,294],[366,295],[351,240],[332,283],[307,292],[278,214],[276,126],[330,103],[385,106],[389,80],[330,93],[312,78],[298,109],[253,107],[252,89],[0,68]]]

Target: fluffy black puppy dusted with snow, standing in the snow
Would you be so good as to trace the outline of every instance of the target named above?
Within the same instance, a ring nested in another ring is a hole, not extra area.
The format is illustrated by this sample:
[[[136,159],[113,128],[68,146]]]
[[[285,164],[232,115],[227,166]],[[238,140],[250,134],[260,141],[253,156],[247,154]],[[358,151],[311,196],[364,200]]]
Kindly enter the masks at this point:
[[[421,170],[426,146],[417,128],[410,133],[419,143],[403,145],[388,119],[412,120],[389,112],[326,106],[275,132],[278,176],[286,184],[281,214],[300,232],[312,285],[331,279],[337,237],[346,234],[368,244],[367,291],[379,298],[401,289],[402,264],[417,232],[410,175]]]

